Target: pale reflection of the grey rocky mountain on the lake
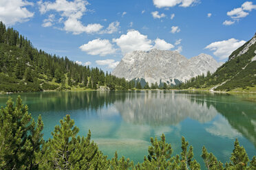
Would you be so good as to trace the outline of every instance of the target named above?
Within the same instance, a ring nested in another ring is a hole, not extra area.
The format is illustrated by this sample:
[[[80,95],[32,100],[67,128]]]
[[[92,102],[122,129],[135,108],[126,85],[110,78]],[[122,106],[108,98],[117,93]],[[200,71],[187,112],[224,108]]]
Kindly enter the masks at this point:
[[[134,94],[114,106],[124,121],[134,124],[177,125],[187,118],[206,123],[217,115],[213,106],[193,101],[189,95],[164,92]]]

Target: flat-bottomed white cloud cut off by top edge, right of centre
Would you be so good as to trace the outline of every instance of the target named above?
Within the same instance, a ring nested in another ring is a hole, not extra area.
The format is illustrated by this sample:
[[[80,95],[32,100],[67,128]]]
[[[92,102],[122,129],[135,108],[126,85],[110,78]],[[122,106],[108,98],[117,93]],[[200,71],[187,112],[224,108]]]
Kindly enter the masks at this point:
[[[156,5],[157,8],[168,8],[175,5],[189,7],[195,3],[198,3],[198,0],[153,0],[153,4]]]

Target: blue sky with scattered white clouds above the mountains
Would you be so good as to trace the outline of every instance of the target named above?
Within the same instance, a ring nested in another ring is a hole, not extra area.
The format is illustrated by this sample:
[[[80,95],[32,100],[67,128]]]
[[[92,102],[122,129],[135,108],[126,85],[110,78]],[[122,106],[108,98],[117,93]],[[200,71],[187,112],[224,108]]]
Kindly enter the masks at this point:
[[[226,61],[256,32],[256,1],[0,0],[0,21],[37,49],[111,71],[153,48]]]

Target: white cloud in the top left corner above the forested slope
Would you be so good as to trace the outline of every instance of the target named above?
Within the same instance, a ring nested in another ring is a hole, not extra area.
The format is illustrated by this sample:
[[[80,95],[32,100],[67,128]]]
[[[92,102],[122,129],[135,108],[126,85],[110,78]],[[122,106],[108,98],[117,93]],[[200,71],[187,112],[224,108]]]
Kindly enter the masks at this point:
[[[33,3],[23,0],[1,0],[0,21],[3,21],[6,25],[29,21],[34,13],[25,8],[28,5],[33,5]]]

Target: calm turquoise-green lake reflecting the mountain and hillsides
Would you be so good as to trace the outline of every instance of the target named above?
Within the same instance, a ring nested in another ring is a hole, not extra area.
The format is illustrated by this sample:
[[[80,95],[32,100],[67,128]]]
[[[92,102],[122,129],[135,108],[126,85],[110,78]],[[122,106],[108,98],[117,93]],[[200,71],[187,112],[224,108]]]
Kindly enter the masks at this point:
[[[251,159],[256,155],[256,103],[250,95],[226,95],[180,91],[48,92],[22,93],[32,116],[43,117],[44,138],[50,138],[59,120],[70,114],[79,135],[92,130],[92,140],[111,158],[118,151],[142,162],[151,136],[166,135],[174,154],[180,153],[181,137],[194,148],[202,164],[202,146],[226,162],[235,138]],[[0,106],[8,96],[0,95]],[[255,96],[254,96],[255,97]]]

